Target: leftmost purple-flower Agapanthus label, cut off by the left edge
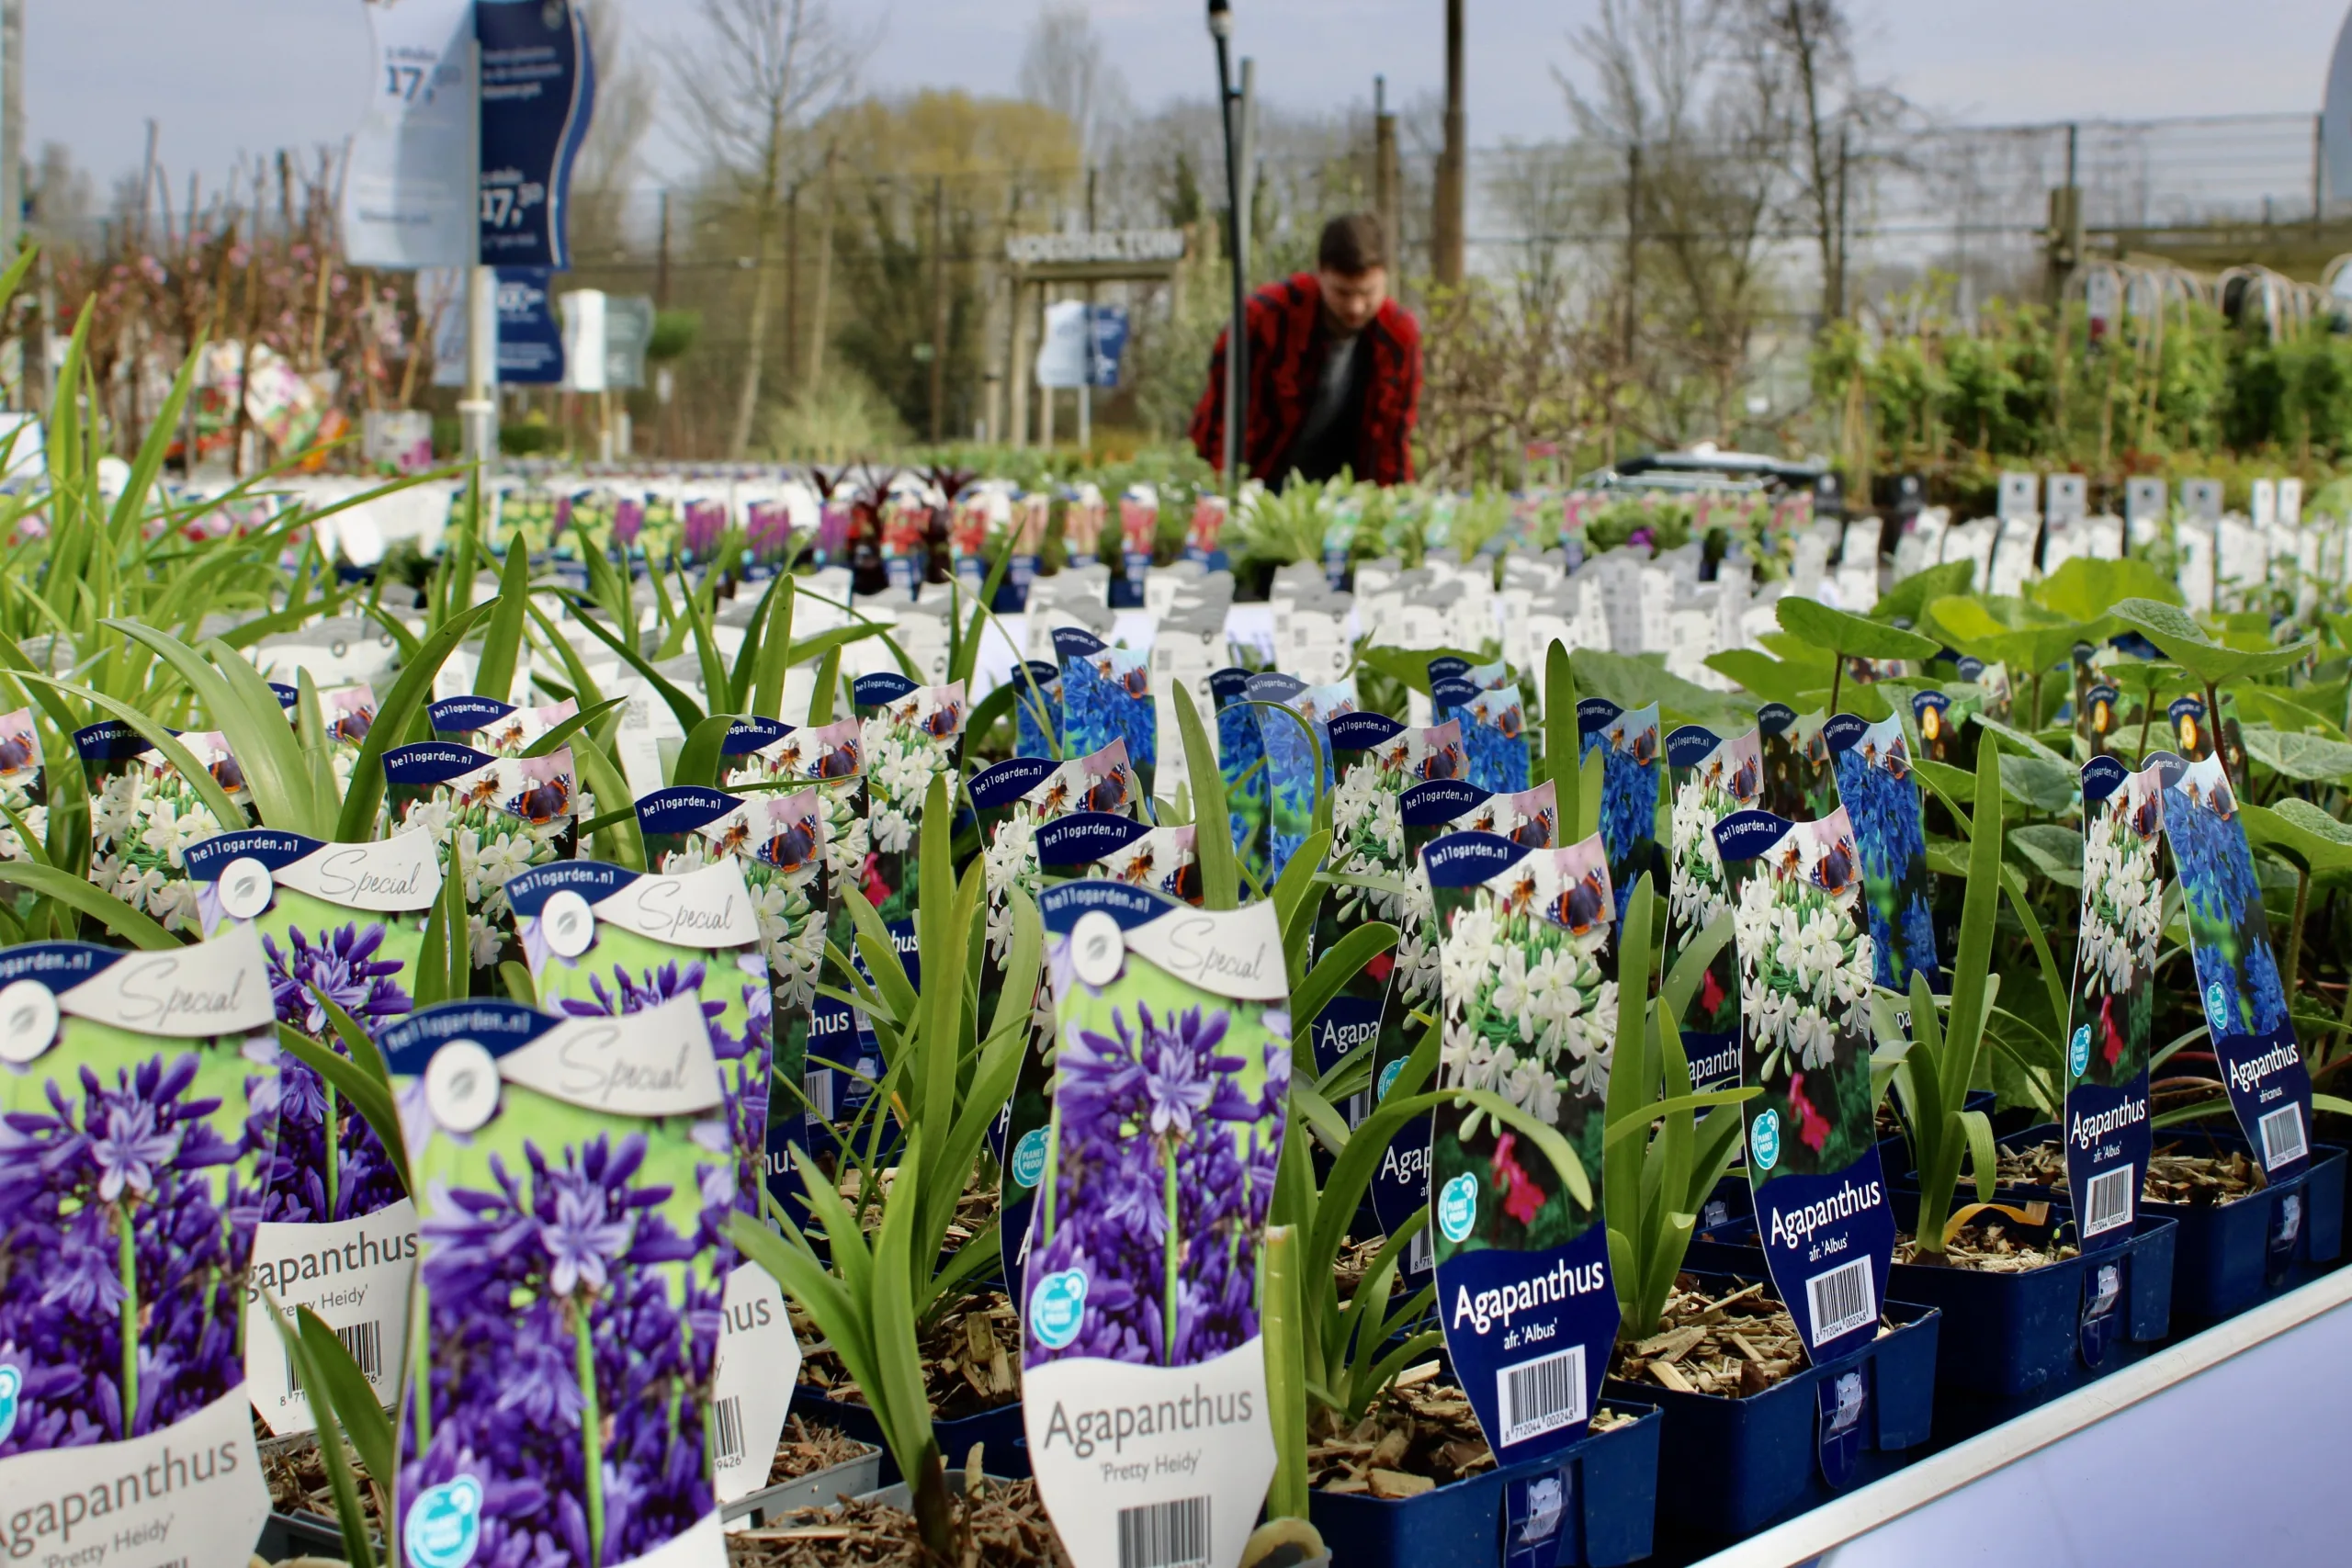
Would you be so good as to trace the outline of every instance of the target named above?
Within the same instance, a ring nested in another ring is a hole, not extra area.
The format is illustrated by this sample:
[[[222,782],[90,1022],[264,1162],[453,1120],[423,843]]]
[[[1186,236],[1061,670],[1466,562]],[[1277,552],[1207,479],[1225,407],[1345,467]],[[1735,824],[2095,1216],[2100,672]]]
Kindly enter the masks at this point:
[[[247,929],[0,950],[9,1559],[242,1563],[268,1519],[238,1328],[275,1023]]]

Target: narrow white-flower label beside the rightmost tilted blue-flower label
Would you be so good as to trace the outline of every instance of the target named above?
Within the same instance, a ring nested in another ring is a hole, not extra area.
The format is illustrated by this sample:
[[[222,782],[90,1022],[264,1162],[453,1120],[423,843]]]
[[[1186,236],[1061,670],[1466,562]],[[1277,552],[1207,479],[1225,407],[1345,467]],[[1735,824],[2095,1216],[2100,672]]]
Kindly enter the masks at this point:
[[[2082,936],[2067,1016],[2065,1175],[2082,1251],[2133,1234],[2154,1135],[2147,1044],[2164,940],[2164,769],[2082,769]]]

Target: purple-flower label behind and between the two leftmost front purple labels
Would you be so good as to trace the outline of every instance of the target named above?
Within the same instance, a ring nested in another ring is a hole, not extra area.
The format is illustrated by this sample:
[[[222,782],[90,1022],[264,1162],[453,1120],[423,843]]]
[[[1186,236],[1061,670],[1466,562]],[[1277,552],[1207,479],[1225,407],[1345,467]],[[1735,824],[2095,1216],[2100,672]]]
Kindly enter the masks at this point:
[[[348,1056],[327,1001],[381,1034],[414,1009],[416,954],[440,898],[430,835],[322,844],[245,827],[188,849],[207,938],[252,926],[268,959],[278,1023]],[[275,1051],[275,1041],[268,1046]],[[278,1145],[254,1237],[245,1382],[270,1432],[310,1432],[270,1305],[310,1307],[334,1328],[381,1403],[400,1399],[400,1347],[416,1269],[416,1206],[367,1119],[292,1053],[278,1060]]]

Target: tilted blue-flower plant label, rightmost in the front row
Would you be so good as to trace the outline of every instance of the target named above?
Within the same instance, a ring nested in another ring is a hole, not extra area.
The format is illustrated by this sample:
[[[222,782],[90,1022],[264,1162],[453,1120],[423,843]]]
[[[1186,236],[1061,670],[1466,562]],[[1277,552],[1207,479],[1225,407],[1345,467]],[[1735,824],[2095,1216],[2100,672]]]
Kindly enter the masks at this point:
[[[2256,1159],[2270,1180],[2284,1180],[2312,1159],[2312,1072],[2286,1018],[2237,792],[2216,755],[2164,771],[2164,837],[2187,905],[2213,1060]]]

